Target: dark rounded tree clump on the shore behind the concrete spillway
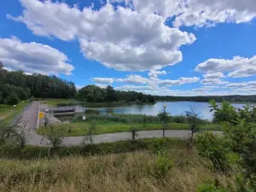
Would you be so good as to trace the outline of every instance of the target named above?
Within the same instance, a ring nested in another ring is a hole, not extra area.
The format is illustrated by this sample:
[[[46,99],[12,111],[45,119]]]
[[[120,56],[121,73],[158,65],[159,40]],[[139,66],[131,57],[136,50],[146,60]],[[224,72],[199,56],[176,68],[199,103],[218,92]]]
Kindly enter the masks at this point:
[[[110,85],[107,88],[96,85],[85,86],[78,91],[76,99],[84,102],[135,102],[137,104],[155,102],[154,96],[136,91],[114,90]]]

